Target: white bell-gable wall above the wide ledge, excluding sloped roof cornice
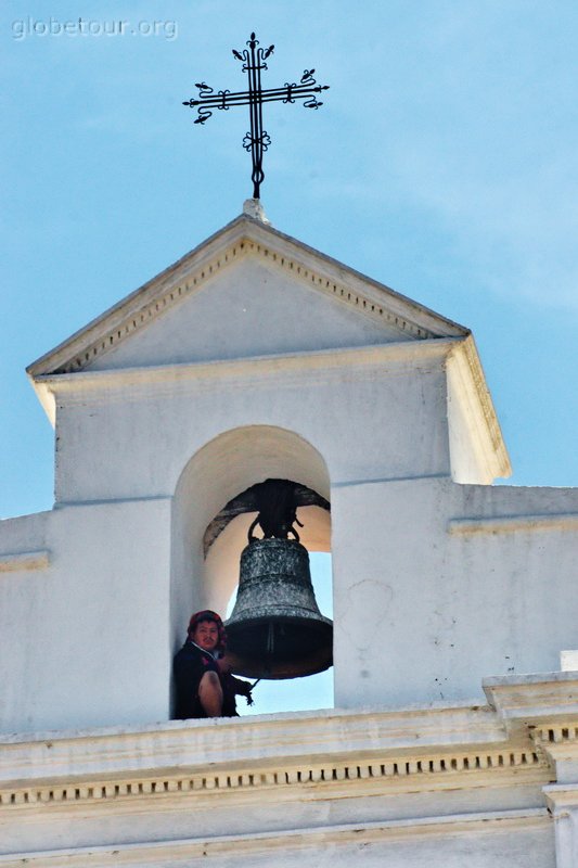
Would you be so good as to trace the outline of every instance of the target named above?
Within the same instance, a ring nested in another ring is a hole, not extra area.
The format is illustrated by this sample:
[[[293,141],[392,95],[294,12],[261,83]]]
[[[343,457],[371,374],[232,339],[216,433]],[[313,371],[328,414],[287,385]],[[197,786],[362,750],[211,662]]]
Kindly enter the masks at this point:
[[[187,615],[230,593],[204,531],[267,476],[331,499],[336,705],[476,697],[576,648],[577,493],[452,482],[506,465],[465,331],[396,334],[287,273],[223,267],[39,375],[56,505],[0,525],[4,729],[166,720]]]

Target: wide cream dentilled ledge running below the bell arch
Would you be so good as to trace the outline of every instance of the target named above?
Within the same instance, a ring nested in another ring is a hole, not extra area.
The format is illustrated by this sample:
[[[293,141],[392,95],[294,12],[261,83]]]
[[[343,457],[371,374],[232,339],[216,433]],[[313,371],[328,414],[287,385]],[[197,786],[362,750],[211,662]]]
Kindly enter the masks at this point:
[[[491,677],[483,686],[489,706],[435,703],[7,735],[0,809],[100,804],[129,812],[136,802],[147,809],[151,800],[170,809],[175,800],[192,805],[213,795],[242,806],[264,797],[553,781],[578,792],[578,672]]]

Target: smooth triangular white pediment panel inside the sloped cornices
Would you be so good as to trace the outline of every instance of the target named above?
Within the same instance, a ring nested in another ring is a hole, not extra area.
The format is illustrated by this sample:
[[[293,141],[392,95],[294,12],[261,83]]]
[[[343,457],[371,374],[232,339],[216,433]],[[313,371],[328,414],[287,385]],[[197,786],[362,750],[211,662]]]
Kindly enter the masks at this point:
[[[350,306],[272,265],[244,259],[210,278],[89,367],[132,368],[402,340]]]

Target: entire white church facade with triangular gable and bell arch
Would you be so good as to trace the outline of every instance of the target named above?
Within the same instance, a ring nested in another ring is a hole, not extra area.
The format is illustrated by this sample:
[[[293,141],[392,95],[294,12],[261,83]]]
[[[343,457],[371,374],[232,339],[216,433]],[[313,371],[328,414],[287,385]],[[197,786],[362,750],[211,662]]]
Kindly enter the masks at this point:
[[[467,329],[248,210],[28,373],[55,503],[0,524],[0,866],[578,867],[578,492],[491,484]],[[335,707],[174,720],[254,515],[210,528],[271,477],[331,505]]]

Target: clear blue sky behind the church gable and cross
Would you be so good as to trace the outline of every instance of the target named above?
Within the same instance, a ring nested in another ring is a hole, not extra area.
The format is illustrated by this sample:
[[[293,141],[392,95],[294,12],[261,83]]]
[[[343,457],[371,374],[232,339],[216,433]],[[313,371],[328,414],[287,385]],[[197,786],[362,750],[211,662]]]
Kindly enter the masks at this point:
[[[245,110],[200,127],[181,102],[244,87],[252,29],[275,44],[265,86],[331,86],[318,112],[267,107],[272,224],[470,327],[508,484],[578,485],[574,0],[9,1],[0,515],[52,505],[25,366],[251,195]]]

